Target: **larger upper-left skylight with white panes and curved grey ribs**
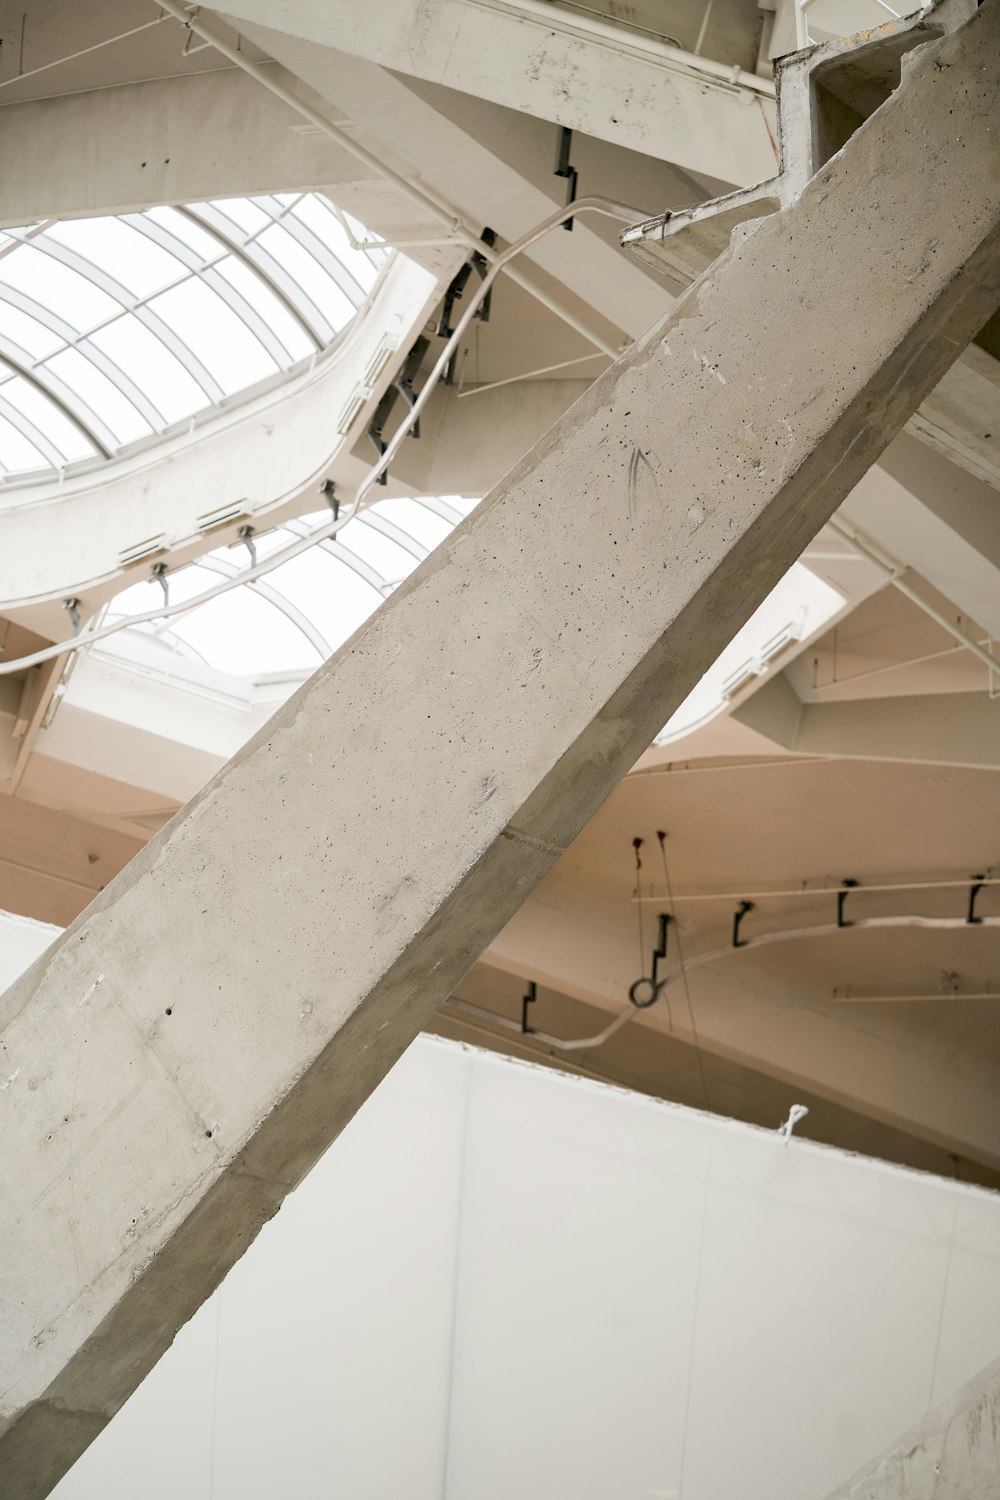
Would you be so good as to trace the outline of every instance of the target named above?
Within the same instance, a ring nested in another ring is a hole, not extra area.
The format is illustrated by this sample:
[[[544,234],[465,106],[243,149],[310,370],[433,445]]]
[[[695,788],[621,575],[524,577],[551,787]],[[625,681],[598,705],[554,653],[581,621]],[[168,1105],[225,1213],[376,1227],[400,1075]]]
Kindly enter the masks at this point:
[[[112,458],[328,348],[388,250],[318,194],[0,230],[0,483]]]

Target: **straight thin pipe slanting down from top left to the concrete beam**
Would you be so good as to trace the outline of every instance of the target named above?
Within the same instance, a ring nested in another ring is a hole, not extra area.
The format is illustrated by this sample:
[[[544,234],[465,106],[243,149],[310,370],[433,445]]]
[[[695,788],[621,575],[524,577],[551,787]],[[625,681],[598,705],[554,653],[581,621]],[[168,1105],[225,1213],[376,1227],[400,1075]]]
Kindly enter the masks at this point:
[[[366,146],[361,146],[360,141],[355,141],[352,135],[349,135],[346,130],[342,130],[340,126],[334,124],[331,120],[327,120],[325,114],[321,114],[319,110],[313,110],[310,104],[306,104],[304,99],[300,99],[297,93],[292,93],[291,88],[286,88],[285,84],[282,84],[277,78],[271,78],[270,74],[258,63],[252,63],[250,58],[246,56],[246,52],[241,52],[238,51],[238,48],[231,46],[229,42],[225,40],[225,38],[219,36],[217,32],[213,32],[211,27],[205,26],[204,21],[199,21],[196,8],[193,9],[193,12],[187,10],[183,4],[178,4],[178,0],[159,0],[159,3],[177,21],[180,21],[183,27],[186,27],[189,32],[195,32],[198,36],[204,38],[205,42],[210,42],[217,52],[220,52],[231,63],[234,63],[235,68],[241,68],[244,74],[250,75],[250,78],[256,78],[261,87],[267,88],[268,93],[273,93],[276,99],[280,99],[283,104],[286,104],[289,110],[295,110],[303,117],[303,120],[309,120],[310,124],[315,124],[318,130],[322,130],[324,135],[328,135],[330,140],[336,141],[337,146],[340,146],[345,152],[349,152],[352,156],[357,156],[357,159],[363,162],[364,166],[369,168],[369,171],[393,183],[393,186],[399,192],[402,192],[406,198],[409,198],[409,201],[415,204],[423,213],[429,213],[432,218],[438,219],[438,222],[447,228],[448,236],[454,237],[454,242],[457,244],[466,244],[469,249],[477,250],[486,261],[496,261],[498,250],[495,250],[489,244],[484,244],[480,240],[477,231],[468,224],[465,224],[460,219],[460,216],[454,212],[454,208],[448,207],[448,204],[445,204],[441,198],[438,198],[436,194],[430,192],[430,189],[418,188],[417,183],[411,182],[408,177],[403,177],[402,172],[393,171],[393,168],[388,166],[384,160],[381,160],[381,158],[375,156],[373,152],[369,152],[369,148]],[[631,222],[642,222],[642,216],[639,216],[636,220]],[[589,344],[594,344],[598,350],[607,354],[609,358],[618,357],[621,350],[613,348],[600,333],[595,333],[580,318],[577,318],[574,312],[571,312],[568,308],[564,308],[556,297],[550,297],[549,292],[541,290],[541,286],[537,286],[529,276],[525,276],[523,272],[508,272],[508,274],[513,282],[517,282],[519,286],[523,286],[525,291],[531,292],[531,296],[537,302],[540,302],[543,308],[547,308],[550,312],[555,312],[558,318],[562,318],[562,321],[567,322],[571,328],[576,328],[576,332],[582,338],[585,338]]]

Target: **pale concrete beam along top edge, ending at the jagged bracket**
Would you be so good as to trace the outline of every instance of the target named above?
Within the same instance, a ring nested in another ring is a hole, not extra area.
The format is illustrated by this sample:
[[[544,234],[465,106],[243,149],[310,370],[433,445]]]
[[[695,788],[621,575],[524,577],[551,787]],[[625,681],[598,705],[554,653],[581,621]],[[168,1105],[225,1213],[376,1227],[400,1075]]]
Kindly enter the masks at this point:
[[[267,0],[220,8],[427,82],[750,184],[775,170],[774,82],[538,0]]]

